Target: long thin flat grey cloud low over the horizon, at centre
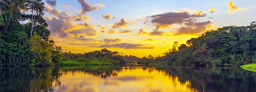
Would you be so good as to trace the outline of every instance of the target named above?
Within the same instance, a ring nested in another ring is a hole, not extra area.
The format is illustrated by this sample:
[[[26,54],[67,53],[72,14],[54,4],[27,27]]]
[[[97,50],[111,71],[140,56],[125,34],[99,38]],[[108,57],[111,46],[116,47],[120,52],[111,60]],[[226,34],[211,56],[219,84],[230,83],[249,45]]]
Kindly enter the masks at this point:
[[[142,45],[142,44],[129,44],[129,43],[105,44],[98,47],[113,47],[113,48],[123,48],[123,49],[154,49],[155,48],[155,47]]]

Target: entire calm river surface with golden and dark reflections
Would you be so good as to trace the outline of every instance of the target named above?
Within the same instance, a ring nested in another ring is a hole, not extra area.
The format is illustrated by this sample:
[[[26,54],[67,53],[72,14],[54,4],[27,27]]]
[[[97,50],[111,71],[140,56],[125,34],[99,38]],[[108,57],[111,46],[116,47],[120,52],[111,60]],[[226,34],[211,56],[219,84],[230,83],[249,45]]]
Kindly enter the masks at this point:
[[[256,72],[156,65],[0,67],[1,92],[256,92]]]

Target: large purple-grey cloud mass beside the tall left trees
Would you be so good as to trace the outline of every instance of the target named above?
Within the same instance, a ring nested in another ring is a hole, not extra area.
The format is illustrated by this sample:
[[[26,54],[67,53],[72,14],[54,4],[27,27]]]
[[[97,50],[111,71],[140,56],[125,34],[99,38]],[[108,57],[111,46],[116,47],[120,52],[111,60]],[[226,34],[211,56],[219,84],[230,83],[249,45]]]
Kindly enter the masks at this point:
[[[90,20],[88,16],[77,14],[77,15],[70,15],[68,16],[67,13],[69,11],[60,12],[58,9],[52,9],[50,6],[45,6],[44,13],[49,13],[50,17],[44,16],[47,24],[48,29],[51,31],[52,36],[57,37],[66,37],[68,35],[71,35],[69,33],[72,30],[81,30],[86,28],[93,28],[93,25],[90,25],[89,23],[77,23],[74,24],[75,21],[84,21],[84,20]],[[73,34],[73,35],[82,35],[82,36],[93,36],[89,33],[85,34]],[[94,35],[97,34],[96,31]]]

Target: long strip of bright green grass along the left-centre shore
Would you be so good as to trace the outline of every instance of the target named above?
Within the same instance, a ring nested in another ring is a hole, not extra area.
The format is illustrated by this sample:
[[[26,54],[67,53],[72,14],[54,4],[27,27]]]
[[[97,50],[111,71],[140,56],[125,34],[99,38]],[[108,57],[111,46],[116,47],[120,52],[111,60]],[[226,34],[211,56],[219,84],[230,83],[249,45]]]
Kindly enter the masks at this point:
[[[60,61],[58,65],[64,66],[79,66],[79,65],[112,65],[112,63],[102,62],[102,61],[89,61],[89,62],[78,62],[78,61]]]

